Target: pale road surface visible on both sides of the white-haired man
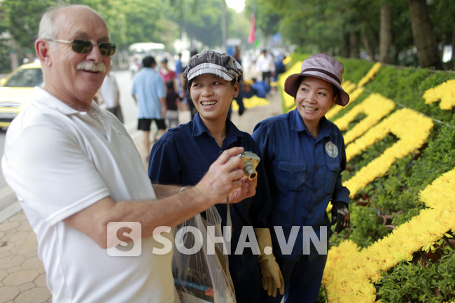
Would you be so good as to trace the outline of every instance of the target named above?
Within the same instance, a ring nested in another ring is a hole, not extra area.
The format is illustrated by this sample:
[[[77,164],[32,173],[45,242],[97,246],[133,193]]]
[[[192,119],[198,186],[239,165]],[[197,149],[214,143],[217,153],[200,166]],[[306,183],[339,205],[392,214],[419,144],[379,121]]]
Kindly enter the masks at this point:
[[[123,110],[125,127],[134,136],[137,126],[137,106],[131,96],[132,74],[130,71],[114,71],[120,87],[120,103]],[[0,158],[3,157],[6,129],[0,130]],[[1,164],[0,164],[1,168]],[[3,174],[0,176],[0,223],[21,210],[13,190],[6,184]]]

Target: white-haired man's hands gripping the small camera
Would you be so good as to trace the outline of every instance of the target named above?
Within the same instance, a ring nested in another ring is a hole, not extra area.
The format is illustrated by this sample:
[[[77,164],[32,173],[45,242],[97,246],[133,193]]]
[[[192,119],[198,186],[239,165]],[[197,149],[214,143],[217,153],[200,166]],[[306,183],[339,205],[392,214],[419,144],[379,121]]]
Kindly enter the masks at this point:
[[[251,195],[252,191],[255,192],[254,182],[251,184],[251,182],[242,181],[245,173],[243,171],[244,164],[240,157],[233,157],[243,151],[244,148],[242,147],[223,151],[220,157],[211,164],[204,178],[195,186],[200,190],[201,195],[209,198],[212,205],[219,202],[225,203],[226,197],[235,190],[238,192],[232,193],[233,200],[230,200],[232,203],[240,202],[241,199]],[[246,184],[248,184],[248,188]]]

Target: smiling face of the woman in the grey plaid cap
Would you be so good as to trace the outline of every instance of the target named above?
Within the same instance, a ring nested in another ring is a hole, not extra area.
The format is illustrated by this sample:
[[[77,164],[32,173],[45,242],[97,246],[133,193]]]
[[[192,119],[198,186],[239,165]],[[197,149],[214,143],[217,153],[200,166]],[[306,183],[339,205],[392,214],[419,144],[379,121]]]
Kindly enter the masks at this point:
[[[225,122],[232,99],[239,94],[239,83],[232,85],[228,80],[205,73],[191,82],[190,94],[204,122],[217,119]]]

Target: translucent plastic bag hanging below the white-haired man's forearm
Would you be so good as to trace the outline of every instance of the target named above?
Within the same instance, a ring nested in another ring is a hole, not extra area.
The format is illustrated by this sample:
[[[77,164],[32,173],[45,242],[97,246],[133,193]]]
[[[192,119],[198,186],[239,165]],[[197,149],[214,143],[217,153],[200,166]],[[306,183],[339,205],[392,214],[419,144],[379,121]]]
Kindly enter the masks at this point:
[[[236,303],[224,243],[214,241],[223,237],[215,206],[205,211],[205,218],[198,214],[178,225],[174,234],[172,274],[181,303]]]

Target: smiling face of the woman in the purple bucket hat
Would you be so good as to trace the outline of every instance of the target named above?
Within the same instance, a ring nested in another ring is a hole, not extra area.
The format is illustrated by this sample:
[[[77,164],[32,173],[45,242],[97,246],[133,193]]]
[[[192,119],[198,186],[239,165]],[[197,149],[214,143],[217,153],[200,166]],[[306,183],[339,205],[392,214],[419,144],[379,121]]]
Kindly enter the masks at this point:
[[[295,94],[295,106],[304,122],[316,123],[337,101],[331,83],[321,78],[305,76]]]

